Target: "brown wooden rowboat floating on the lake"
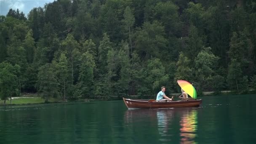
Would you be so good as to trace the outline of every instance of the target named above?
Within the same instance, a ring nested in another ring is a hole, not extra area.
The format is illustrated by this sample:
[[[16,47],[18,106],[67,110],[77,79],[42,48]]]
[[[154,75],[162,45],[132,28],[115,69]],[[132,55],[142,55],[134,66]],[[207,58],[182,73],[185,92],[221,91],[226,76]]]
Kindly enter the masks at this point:
[[[173,107],[199,107],[202,99],[181,99],[180,101],[155,101],[145,99],[125,99],[123,101],[128,109],[132,108],[173,108]]]

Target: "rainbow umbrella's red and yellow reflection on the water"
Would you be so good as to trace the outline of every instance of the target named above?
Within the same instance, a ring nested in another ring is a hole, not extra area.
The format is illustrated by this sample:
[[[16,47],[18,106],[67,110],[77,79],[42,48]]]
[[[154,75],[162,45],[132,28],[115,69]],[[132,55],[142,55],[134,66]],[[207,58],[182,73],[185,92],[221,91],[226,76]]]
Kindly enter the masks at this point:
[[[197,136],[197,109],[183,110],[180,126],[181,143],[195,143],[195,137]]]

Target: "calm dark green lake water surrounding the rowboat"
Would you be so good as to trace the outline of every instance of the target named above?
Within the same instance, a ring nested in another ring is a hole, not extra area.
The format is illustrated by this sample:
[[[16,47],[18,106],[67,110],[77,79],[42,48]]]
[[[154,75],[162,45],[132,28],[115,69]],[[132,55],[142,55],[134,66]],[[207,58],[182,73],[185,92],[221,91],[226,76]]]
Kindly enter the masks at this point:
[[[123,101],[2,106],[0,143],[256,143],[256,95],[198,98],[198,108],[128,110]]]

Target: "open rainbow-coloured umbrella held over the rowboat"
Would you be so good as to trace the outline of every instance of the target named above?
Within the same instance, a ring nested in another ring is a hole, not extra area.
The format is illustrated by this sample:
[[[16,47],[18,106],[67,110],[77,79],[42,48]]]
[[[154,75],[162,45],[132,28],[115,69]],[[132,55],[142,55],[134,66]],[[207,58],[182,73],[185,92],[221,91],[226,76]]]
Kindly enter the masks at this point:
[[[197,99],[197,91],[194,86],[186,80],[177,80],[179,86],[194,99]]]

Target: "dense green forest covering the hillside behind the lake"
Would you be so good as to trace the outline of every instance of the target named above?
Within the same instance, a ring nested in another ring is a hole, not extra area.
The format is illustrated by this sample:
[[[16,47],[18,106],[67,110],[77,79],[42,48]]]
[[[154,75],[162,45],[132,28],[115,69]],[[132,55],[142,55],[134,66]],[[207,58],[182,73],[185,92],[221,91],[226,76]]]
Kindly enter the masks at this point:
[[[256,90],[255,0],[56,0],[0,16],[0,99]]]

